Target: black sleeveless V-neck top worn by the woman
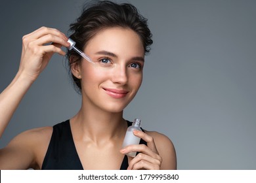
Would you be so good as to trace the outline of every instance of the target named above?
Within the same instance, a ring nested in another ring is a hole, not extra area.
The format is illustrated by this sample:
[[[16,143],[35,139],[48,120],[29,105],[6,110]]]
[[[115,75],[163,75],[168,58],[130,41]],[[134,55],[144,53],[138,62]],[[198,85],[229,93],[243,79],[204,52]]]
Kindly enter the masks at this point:
[[[127,125],[132,123],[127,121]],[[144,131],[142,129],[142,131]],[[146,142],[140,139],[140,144]],[[120,170],[128,167],[127,156],[123,158]],[[83,165],[75,149],[75,143],[70,128],[70,120],[53,126],[53,135],[48,146],[42,170],[83,170]]]

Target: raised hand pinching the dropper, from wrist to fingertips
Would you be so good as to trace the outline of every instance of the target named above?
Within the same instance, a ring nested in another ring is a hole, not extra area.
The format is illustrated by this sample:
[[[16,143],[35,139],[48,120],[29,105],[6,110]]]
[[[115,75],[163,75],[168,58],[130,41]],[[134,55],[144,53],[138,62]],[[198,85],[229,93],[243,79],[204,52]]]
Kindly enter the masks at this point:
[[[35,80],[45,69],[54,53],[62,56],[62,46],[70,43],[64,33],[57,29],[41,27],[22,38],[22,56],[18,73],[30,80]]]

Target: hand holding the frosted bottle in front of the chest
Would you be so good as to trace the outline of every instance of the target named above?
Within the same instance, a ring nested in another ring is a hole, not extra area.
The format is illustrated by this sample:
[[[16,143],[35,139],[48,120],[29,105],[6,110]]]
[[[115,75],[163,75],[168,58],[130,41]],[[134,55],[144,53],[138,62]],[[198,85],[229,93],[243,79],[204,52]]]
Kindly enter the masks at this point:
[[[120,150],[122,154],[127,154],[129,152],[140,152],[137,154],[137,156],[135,156],[135,158],[128,156],[129,167],[127,170],[159,170],[161,167],[162,158],[156,149],[156,144],[153,137],[147,135],[143,131],[138,130],[133,131],[133,134],[146,141],[147,146],[145,144],[129,145]]]

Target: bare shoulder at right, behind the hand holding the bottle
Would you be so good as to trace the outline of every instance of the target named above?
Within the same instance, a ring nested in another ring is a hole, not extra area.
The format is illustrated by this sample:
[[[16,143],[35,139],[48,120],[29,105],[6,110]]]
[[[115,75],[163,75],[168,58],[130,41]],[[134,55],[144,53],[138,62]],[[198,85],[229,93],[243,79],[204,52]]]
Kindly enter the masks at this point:
[[[158,153],[163,159],[161,169],[177,169],[176,152],[171,139],[157,131],[145,130],[145,133],[153,137]]]

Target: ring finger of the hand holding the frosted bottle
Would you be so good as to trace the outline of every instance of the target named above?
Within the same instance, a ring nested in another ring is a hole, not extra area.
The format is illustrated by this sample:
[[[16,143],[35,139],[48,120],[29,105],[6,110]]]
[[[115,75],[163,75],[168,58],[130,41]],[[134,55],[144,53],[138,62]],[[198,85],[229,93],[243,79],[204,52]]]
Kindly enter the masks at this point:
[[[155,159],[155,158],[152,158],[151,156],[148,156],[146,154],[142,154],[142,153],[139,153],[137,156],[135,156],[135,158],[131,159],[131,161],[129,162],[129,169],[133,169],[134,165],[137,164],[137,163],[140,163],[143,161],[148,161],[149,163],[151,164],[154,164],[154,165],[158,165],[160,167],[161,165],[161,159]]]

